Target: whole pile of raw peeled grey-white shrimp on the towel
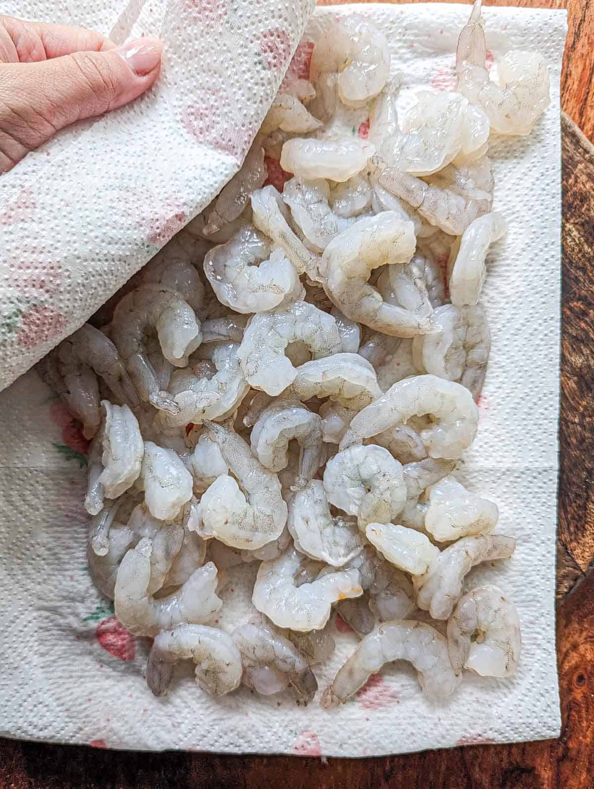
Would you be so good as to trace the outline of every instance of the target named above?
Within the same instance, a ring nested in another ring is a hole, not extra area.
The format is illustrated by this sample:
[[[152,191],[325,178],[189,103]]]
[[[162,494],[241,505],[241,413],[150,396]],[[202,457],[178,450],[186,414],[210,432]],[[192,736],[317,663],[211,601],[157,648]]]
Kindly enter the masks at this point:
[[[89,570],[153,639],[155,695],[193,660],[208,694],[307,703],[334,611],[359,643],[324,707],[395,660],[432,699],[465,672],[516,670],[513,602],[470,580],[514,539],[457,472],[491,344],[488,250],[506,232],[489,136],[529,133],[548,77],[540,54],[513,51],[495,82],[485,51],[477,0],[456,91],[419,91],[402,113],[385,37],[337,18],[215,201],[109,323],[43,361],[92,439]],[[275,158],[282,192],[266,184]],[[223,627],[242,563],[257,563],[252,609]]]

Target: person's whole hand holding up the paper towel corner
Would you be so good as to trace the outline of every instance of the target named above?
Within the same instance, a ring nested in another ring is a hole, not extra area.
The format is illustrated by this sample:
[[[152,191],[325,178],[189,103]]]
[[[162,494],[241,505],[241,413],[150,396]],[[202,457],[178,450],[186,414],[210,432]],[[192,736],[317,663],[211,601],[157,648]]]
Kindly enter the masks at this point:
[[[115,110],[159,77],[159,39],[0,16],[0,174],[59,129]]]

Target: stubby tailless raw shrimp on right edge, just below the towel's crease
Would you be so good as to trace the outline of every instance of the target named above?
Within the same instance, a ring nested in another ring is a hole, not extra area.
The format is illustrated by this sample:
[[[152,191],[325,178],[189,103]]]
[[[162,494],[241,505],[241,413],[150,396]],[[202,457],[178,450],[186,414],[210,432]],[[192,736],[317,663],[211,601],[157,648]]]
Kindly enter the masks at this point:
[[[443,477],[428,488],[425,529],[438,542],[488,534],[499,520],[496,504],[466,490],[455,477]]]

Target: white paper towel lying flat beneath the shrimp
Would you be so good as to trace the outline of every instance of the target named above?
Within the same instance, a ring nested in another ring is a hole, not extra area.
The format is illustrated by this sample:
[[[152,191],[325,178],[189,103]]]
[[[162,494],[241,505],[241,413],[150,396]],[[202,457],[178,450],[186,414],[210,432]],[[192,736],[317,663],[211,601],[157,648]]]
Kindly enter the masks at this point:
[[[392,68],[403,73],[404,84],[450,86],[468,6],[318,9],[306,36],[318,36],[334,13],[353,12],[369,14],[387,34]],[[477,568],[469,578],[469,584],[495,582],[516,602],[523,634],[517,674],[507,680],[466,675],[454,697],[434,705],[421,694],[414,671],[396,664],[348,704],[326,712],[316,703],[297,708],[288,696],[265,699],[248,690],[215,701],[196,688],[192,666],[185,664],[170,696],[155,699],[143,676],[148,641],[121,628],[88,577],[85,474],[79,468],[84,440],[61,403],[29,372],[0,395],[0,734],[113,748],[350,757],[559,734],[559,72],[566,14],[510,8],[486,9],[484,17],[495,61],[510,48],[540,50],[551,73],[551,107],[532,135],[494,138],[491,145],[496,208],[506,214],[510,230],[489,258],[484,303],[491,362],[478,437],[464,466],[469,487],[499,504],[498,532],[517,539],[510,561]],[[159,178],[166,168],[175,170],[177,150],[172,140],[156,165]],[[232,166],[223,155],[216,161],[225,172]],[[182,180],[188,170],[186,159]],[[219,176],[213,167],[212,182]],[[90,214],[88,221],[90,243]],[[67,232],[58,215],[54,230],[60,238]],[[131,243],[126,239],[127,249]],[[131,267],[139,254],[130,252]],[[254,572],[247,566],[232,576],[223,593],[222,626],[248,615],[245,589],[251,589]],[[316,667],[321,687],[356,643],[342,630],[334,633],[332,659]]]

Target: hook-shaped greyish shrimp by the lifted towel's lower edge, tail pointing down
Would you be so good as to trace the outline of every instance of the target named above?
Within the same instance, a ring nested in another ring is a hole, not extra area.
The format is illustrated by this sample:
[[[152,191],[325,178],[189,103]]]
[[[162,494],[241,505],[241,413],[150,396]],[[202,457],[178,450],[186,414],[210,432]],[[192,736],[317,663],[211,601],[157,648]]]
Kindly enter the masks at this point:
[[[163,286],[141,285],[126,294],[114,310],[111,335],[140,398],[155,408],[177,413],[167,392],[159,390],[155,371],[144,348],[145,332],[156,331],[163,356],[185,367],[202,342],[200,321],[187,301]]]

